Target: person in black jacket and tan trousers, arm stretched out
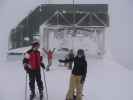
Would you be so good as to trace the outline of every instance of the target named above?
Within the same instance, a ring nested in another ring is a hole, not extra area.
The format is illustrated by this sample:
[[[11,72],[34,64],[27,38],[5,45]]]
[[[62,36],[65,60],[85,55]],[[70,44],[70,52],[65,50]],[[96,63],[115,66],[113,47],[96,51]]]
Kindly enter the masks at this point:
[[[64,61],[64,62],[69,62]],[[76,100],[82,100],[82,87],[87,74],[87,61],[85,59],[84,50],[79,49],[76,57],[73,59],[74,67],[70,78],[69,89],[66,100],[73,100],[74,90],[76,89]]]

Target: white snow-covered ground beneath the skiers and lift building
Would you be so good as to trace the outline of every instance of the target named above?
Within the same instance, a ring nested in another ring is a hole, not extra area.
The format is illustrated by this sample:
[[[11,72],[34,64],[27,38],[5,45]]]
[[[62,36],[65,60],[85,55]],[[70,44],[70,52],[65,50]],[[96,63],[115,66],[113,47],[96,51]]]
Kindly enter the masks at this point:
[[[22,62],[5,61],[0,65],[0,100],[24,100],[25,72]],[[70,73],[56,60],[51,71],[45,72],[49,100],[65,100]],[[133,100],[132,76],[132,70],[114,61],[88,58],[83,100]]]

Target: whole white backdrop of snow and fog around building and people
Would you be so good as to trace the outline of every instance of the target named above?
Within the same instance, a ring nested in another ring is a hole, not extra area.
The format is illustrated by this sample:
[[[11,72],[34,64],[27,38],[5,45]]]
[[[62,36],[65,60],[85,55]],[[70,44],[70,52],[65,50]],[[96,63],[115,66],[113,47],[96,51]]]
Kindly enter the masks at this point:
[[[0,0],[0,100],[24,100],[25,73],[21,61],[7,61],[8,36],[24,16],[41,3],[72,0]],[[76,3],[109,4],[106,56],[88,58],[84,100],[133,100],[133,1],[75,0]],[[70,71],[55,64],[46,72],[49,100],[64,100]],[[56,91],[55,91],[56,90]]]

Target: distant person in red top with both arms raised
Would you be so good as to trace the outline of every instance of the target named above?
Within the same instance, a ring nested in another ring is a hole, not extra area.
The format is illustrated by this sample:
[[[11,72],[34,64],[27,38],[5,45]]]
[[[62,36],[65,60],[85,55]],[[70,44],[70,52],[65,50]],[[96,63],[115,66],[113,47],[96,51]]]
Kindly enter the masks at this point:
[[[48,50],[48,51],[45,48],[43,48],[43,50],[47,54],[48,65],[47,65],[46,70],[49,71],[50,66],[52,65],[53,54],[54,54],[55,48],[53,50]]]

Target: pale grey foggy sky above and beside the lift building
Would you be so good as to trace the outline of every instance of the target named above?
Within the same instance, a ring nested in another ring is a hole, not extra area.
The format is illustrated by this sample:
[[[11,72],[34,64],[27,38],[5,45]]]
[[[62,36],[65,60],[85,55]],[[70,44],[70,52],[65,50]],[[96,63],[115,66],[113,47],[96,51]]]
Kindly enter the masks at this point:
[[[0,59],[6,57],[9,32],[29,12],[41,3],[72,3],[72,0],[1,0],[0,1]],[[133,67],[133,1],[75,0],[75,3],[109,4],[110,26],[106,30],[106,52],[125,67]]]

